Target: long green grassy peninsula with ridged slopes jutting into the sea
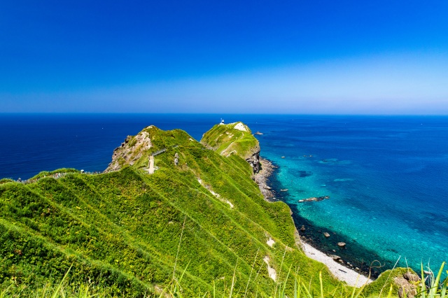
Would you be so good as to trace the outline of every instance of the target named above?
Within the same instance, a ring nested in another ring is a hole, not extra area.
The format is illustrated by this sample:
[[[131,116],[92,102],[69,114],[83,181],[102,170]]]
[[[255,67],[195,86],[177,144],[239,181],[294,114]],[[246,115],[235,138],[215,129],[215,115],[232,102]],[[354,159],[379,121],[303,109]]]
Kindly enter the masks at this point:
[[[265,201],[246,161],[260,147],[239,123],[216,125],[202,143],[150,126],[127,137],[105,173],[1,180],[0,293],[63,283],[103,296],[160,297],[176,285],[184,297],[293,297],[300,281],[311,295],[351,295],[304,255],[288,206]]]

